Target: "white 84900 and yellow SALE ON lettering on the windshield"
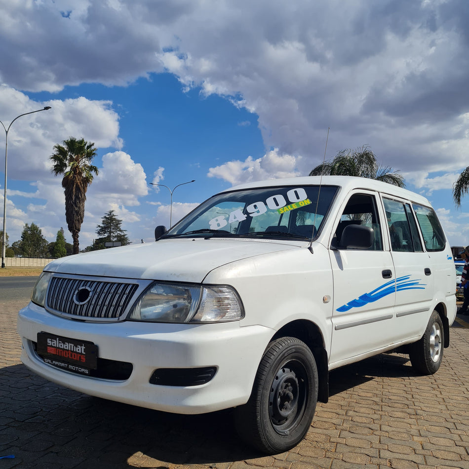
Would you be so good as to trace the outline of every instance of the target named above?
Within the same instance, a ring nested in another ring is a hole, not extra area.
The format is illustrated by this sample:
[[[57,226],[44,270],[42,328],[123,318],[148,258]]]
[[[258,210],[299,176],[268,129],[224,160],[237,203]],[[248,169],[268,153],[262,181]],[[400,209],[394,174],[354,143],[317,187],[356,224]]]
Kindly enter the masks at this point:
[[[266,213],[268,209],[275,210],[281,214],[311,203],[306,191],[302,187],[291,189],[286,195],[290,204],[288,204],[283,195],[276,194],[267,198],[265,202],[259,201],[249,204],[246,207],[246,211],[250,217],[258,217]],[[226,220],[226,216],[222,215],[212,218],[208,223],[210,224],[210,229],[220,230],[227,226],[228,223],[242,222],[246,220],[246,218],[247,215],[243,213],[242,210],[237,209],[228,215],[228,221]]]

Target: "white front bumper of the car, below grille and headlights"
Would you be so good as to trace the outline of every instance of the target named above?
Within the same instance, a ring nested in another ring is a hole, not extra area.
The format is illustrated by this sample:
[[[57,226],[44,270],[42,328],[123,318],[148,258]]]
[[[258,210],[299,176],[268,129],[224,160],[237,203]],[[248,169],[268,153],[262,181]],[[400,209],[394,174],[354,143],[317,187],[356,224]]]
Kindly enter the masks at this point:
[[[96,323],[66,319],[30,303],[17,324],[21,360],[54,383],[89,395],[181,414],[212,412],[247,402],[272,329],[239,322],[162,324],[124,321]],[[84,376],[47,364],[36,351],[39,332],[89,341],[98,356],[128,362],[127,379]],[[151,384],[156,369],[216,367],[214,377],[198,386]]]

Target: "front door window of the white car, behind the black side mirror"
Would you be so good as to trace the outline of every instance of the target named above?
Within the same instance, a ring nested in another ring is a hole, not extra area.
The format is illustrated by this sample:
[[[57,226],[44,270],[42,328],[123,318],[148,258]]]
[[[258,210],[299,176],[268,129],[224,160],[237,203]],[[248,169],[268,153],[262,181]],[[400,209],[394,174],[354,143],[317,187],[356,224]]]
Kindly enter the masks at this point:
[[[373,228],[374,242],[368,250],[383,250],[381,224],[376,210],[375,197],[367,194],[354,194],[350,197],[336,229],[336,245],[340,245],[342,233],[348,225],[362,225]]]

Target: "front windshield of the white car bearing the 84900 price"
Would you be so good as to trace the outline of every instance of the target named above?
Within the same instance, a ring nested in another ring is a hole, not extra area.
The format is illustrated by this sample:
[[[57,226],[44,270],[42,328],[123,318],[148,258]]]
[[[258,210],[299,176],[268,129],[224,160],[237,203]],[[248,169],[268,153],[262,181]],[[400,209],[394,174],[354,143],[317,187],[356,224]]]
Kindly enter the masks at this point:
[[[312,239],[320,230],[336,193],[335,186],[276,186],[215,195],[162,237]]]

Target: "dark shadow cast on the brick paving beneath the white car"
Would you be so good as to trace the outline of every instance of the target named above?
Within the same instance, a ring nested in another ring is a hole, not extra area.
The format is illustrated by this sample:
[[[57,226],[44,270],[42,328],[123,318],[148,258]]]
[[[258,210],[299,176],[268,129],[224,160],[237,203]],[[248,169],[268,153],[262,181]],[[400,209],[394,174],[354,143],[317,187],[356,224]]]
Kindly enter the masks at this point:
[[[415,376],[403,355],[382,354],[333,370],[330,395],[377,377]],[[179,415],[91,397],[53,384],[24,365],[0,369],[3,468],[167,469],[265,455],[237,436],[232,411]]]

